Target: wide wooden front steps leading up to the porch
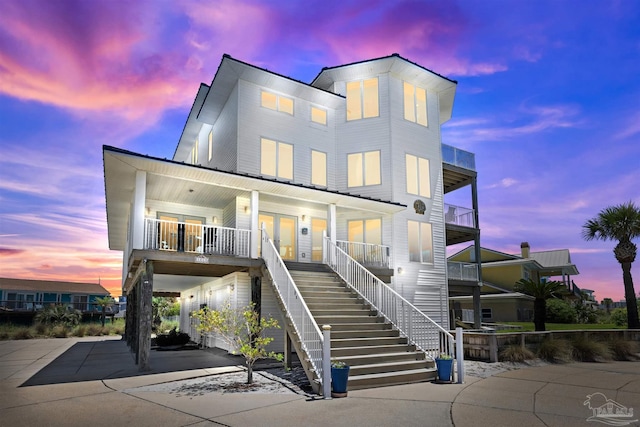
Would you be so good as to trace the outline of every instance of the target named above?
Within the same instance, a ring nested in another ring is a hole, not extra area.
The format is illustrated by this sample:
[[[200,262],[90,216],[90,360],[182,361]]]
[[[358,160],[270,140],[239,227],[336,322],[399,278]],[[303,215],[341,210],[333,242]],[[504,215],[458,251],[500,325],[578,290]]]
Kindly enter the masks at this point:
[[[408,344],[329,267],[288,263],[288,268],[318,325],[331,325],[331,360],[350,366],[350,390],[436,378],[435,363]]]

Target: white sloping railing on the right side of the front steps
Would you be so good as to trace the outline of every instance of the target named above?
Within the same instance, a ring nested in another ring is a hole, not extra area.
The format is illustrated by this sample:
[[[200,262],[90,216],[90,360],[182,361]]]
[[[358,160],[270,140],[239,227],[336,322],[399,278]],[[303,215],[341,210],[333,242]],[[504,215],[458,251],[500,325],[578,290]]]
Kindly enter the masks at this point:
[[[418,310],[396,291],[374,276],[327,237],[325,263],[372,308],[394,325],[411,344],[435,359],[440,353],[455,357],[454,338],[446,329]]]

